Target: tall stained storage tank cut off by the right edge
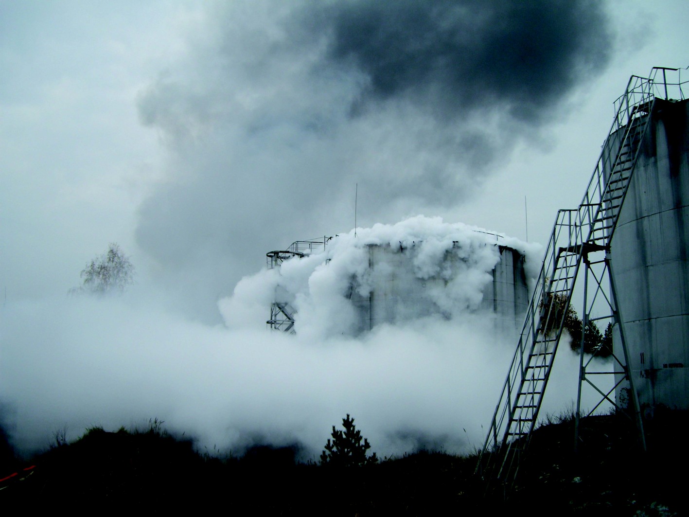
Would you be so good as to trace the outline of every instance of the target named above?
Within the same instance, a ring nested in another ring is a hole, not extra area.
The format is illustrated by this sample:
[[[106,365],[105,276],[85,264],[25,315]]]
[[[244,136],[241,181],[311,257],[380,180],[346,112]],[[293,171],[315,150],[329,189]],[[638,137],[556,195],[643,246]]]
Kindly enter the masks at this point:
[[[688,101],[655,101],[610,247],[629,367],[651,408],[689,409],[688,114]]]

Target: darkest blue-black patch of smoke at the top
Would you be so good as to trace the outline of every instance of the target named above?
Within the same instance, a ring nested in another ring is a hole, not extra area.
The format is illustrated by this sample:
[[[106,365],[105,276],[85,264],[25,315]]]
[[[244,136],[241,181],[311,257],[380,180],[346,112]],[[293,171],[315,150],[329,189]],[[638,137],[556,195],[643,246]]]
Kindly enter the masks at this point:
[[[590,0],[340,1],[304,23],[328,34],[329,59],[367,77],[363,105],[404,95],[457,116],[497,103],[531,122],[601,70],[612,43]]]

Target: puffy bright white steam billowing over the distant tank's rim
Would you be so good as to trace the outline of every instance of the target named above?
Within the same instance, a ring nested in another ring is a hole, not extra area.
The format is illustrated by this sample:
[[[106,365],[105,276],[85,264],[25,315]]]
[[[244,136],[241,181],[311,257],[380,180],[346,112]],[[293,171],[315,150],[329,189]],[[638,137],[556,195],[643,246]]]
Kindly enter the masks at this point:
[[[377,224],[336,236],[320,252],[303,259],[291,259],[276,270],[263,270],[243,278],[235,296],[220,301],[220,312],[228,327],[256,326],[263,322],[259,314],[275,299],[276,292],[296,310],[296,330],[302,338],[325,339],[356,332],[356,310],[352,291],[368,296],[374,285],[391,280],[387,263],[371,267],[369,245],[402,248],[411,254],[413,276],[426,280],[443,278],[439,286],[429,288],[428,297],[438,314],[466,317],[480,308],[484,288],[492,280],[491,272],[500,261],[498,245],[512,247],[530,257],[526,261],[531,274],[538,259],[539,245],[497,236],[481,228],[462,223],[444,223],[440,217],[416,216],[395,225]],[[317,248],[318,250],[318,248]],[[446,254],[454,252],[458,265],[449,267]],[[355,281],[356,279],[356,281]],[[398,279],[404,281],[404,278]],[[355,285],[356,284],[356,285]],[[396,316],[389,321],[418,319],[420,307],[394,307]]]

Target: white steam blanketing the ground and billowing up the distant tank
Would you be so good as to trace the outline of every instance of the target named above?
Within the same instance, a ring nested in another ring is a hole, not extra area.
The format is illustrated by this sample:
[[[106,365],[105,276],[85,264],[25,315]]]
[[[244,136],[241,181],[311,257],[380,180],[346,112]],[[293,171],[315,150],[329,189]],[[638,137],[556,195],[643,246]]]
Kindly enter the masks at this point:
[[[484,234],[417,217],[342,236],[328,250],[328,266],[313,256],[285,263],[281,278],[277,270],[245,278],[220,304],[228,327],[185,321],[136,290],[6,305],[0,389],[14,443],[30,450],[63,428],[76,438],[92,425],[159,418],[202,449],[298,443],[303,457],[316,458],[331,425],[349,413],[382,456],[470,450],[484,439],[515,345],[490,330],[485,315],[462,310],[451,319],[380,325],[359,338],[323,325],[323,314],[304,318],[296,336],[247,324],[265,322],[280,281],[304,296],[302,316],[341,308],[338,276],[358,267],[361,243],[410,238],[429,243],[420,272],[432,269],[446,239],[465,240],[472,271],[494,260],[482,255],[485,247],[471,248]],[[562,392],[571,397],[576,388],[576,358],[565,354],[572,361],[560,363],[571,364],[549,387],[555,410]]]

